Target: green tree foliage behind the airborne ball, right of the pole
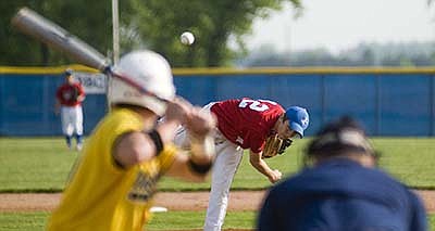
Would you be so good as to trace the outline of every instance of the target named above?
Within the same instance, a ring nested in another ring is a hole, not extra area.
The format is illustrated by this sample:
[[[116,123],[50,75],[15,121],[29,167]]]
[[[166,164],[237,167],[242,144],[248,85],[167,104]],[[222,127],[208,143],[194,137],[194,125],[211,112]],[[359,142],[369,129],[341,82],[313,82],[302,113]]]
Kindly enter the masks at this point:
[[[163,53],[173,66],[221,66],[233,57],[229,36],[243,47],[243,35],[250,33],[252,20],[279,10],[284,0],[132,0],[134,12],[126,27],[137,28],[145,44]],[[298,0],[290,0],[300,8]],[[142,23],[146,22],[146,23]],[[186,47],[178,41],[184,30],[196,36]]]

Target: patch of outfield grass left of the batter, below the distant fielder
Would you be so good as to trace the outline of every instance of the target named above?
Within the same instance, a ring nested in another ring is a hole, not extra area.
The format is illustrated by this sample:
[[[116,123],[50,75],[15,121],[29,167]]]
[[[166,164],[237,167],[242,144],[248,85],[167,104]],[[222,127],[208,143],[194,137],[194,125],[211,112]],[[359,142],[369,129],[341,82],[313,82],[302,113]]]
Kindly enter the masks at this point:
[[[0,191],[60,191],[76,157],[63,139],[0,138]]]

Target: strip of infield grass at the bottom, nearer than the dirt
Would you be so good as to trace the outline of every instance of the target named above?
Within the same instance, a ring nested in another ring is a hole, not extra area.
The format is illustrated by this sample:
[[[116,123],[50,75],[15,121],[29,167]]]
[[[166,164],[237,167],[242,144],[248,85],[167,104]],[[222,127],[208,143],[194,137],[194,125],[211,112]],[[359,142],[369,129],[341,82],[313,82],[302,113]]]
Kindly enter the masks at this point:
[[[0,230],[42,231],[48,213],[3,213],[0,214]],[[257,214],[253,211],[229,211],[224,229],[253,229]],[[156,214],[147,230],[189,230],[200,229],[203,211],[169,211]],[[435,230],[435,214],[428,216],[430,230]]]

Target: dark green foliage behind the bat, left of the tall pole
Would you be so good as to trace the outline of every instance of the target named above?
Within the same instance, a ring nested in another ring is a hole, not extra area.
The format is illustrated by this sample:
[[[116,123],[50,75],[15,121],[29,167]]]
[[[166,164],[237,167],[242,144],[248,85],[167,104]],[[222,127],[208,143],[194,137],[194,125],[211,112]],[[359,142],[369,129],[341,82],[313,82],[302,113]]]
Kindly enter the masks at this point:
[[[122,2],[122,1],[121,1]],[[65,55],[20,34],[10,21],[27,7],[105,53],[112,43],[111,4],[104,1],[0,1],[0,65],[52,65],[69,62]]]

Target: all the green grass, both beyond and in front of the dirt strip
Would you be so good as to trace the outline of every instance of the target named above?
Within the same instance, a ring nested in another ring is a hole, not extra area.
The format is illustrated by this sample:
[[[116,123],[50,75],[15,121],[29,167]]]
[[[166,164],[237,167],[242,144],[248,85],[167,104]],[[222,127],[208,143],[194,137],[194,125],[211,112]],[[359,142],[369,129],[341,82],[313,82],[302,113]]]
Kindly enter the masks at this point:
[[[308,139],[298,140],[283,155],[268,163],[293,175],[301,165],[301,153]],[[435,139],[376,138],[375,147],[383,153],[381,167],[408,185],[435,189]],[[69,151],[61,138],[10,139],[0,138],[0,192],[59,192],[63,189],[78,153]],[[259,190],[268,188],[268,180],[245,158],[238,169],[233,189]],[[209,189],[209,182],[192,184],[163,179],[164,191]],[[0,230],[44,230],[48,213],[0,213]],[[224,228],[252,229],[256,211],[229,211]],[[204,211],[170,211],[157,214],[147,230],[200,229]],[[435,214],[430,215],[431,230],[435,230]]]

